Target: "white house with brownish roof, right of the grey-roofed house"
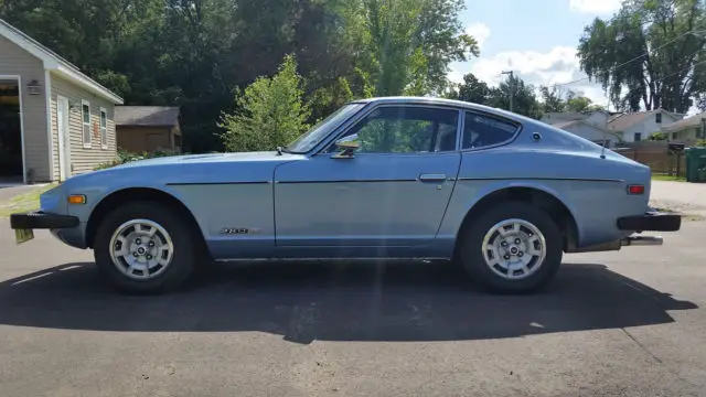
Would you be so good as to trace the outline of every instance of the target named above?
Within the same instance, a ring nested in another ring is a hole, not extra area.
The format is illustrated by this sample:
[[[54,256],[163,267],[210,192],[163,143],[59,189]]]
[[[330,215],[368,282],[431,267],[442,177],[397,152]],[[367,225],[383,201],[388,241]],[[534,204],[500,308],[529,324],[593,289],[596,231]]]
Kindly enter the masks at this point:
[[[664,109],[619,114],[608,119],[608,129],[622,137],[624,142],[648,140],[651,135],[684,118]]]

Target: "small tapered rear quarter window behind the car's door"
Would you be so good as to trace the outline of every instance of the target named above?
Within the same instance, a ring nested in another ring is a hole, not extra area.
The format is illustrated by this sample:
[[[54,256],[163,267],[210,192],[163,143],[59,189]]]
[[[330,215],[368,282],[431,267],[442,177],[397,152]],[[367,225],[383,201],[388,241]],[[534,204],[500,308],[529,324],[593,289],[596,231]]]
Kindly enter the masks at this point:
[[[463,126],[462,149],[478,149],[511,140],[517,132],[517,126],[480,114],[467,112]]]

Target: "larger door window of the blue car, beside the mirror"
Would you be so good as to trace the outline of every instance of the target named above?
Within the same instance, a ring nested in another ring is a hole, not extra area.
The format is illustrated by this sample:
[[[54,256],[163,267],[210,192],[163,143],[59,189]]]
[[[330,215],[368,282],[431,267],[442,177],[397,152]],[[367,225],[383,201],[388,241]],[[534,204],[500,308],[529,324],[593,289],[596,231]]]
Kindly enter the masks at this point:
[[[458,110],[389,106],[373,110],[345,136],[357,133],[359,153],[420,153],[456,150]],[[341,137],[342,138],[342,137]],[[329,150],[336,151],[335,144]]]

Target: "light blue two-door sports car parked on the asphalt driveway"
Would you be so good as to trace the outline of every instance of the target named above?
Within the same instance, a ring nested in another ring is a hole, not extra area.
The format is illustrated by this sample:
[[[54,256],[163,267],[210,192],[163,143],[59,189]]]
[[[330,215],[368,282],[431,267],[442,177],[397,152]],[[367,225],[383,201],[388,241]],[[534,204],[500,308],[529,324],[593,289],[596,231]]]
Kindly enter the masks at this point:
[[[416,97],[356,100],[286,148],[181,155],[71,178],[11,216],[93,248],[113,285],[181,286],[211,260],[428,258],[526,292],[564,253],[660,245],[650,169],[512,112]]]

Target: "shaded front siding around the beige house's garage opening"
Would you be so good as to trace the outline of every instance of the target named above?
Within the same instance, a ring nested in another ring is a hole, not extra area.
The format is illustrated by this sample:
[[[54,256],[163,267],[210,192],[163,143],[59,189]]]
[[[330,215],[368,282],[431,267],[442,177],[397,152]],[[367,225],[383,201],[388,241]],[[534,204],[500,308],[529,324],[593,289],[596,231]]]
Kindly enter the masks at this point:
[[[25,172],[32,173],[28,182],[52,180],[50,171],[50,147],[46,128],[46,97],[44,87],[44,65],[41,60],[29,54],[9,40],[0,36],[0,75],[21,77],[22,127],[24,130]],[[26,84],[36,81],[40,94],[30,95]]]

